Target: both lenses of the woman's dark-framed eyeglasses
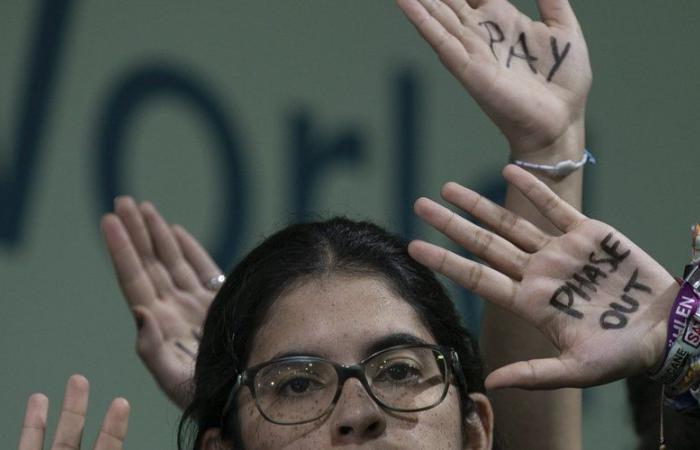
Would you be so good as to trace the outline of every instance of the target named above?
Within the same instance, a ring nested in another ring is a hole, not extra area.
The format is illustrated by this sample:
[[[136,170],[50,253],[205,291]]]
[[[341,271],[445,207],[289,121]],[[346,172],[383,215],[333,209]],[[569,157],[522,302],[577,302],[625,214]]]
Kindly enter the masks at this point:
[[[389,409],[425,409],[443,398],[447,363],[437,350],[389,350],[363,366],[372,394]],[[258,407],[270,420],[306,422],[321,417],[331,407],[338,390],[338,373],[333,364],[316,358],[280,361],[258,371],[254,388]]]

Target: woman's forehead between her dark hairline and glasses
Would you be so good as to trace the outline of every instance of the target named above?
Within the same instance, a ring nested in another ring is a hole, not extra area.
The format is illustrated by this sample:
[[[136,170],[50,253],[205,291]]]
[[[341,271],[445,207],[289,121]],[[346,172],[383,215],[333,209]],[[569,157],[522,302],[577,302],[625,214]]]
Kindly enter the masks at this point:
[[[385,281],[337,274],[313,278],[272,305],[253,339],[248,365],[290,352],[354,364],[373,343],[392,334],[435,343],[411,305]]]

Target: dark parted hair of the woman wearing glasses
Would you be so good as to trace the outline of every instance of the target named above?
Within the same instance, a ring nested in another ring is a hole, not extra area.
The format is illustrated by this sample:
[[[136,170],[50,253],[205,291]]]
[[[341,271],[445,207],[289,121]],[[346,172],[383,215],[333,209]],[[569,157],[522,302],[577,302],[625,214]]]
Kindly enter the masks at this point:
[[[414,261],[397,236],[371,223],[333,218],[284,228],[229,274],[204,324],[193,400],[180,421],[178,448],[198,448],[207,429],[221,426],[253,337],[284,289],[327,273],[381,277],[408,302],[437,343],[457,351],[466,382],[459,389],[462,414],[472,413],[467,393],[484,390],[478,350],[433,272]],[[222,439],[237,442],[235,419],[227,418],[234,426],[224,427]]]

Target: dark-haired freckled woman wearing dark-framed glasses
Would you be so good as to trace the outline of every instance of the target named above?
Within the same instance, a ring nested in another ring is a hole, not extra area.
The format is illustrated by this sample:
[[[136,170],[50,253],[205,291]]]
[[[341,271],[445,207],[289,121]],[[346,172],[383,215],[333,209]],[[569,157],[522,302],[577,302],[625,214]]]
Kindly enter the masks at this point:
[[[377,226],[285,228],[210,308],[185,413],[194,444],[181,448],[448,448],[465,434],[488,448],[481,366],[459,323],[432,272]],[[342,382],[331,362],[361,369]]]

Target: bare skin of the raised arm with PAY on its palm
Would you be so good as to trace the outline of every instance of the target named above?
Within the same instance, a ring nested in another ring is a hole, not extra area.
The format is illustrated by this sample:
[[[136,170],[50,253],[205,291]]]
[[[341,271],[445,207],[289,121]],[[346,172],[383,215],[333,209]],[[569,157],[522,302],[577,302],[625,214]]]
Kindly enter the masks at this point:
[[[539,20],[504,0],[397,0],[397,4],[503,133],[513,158],[540,164],[581,158],[592,76],[586,42],[567,0],[538,0]],[[481,25],[485,21],[499,24],[504,33],[504,42],[494,44],[493,51],[489,33]],[[538,57],[537,73],[523,60],[507,65],[509,48],[520,33],[527,37],[530,53]],[[554,62],[551,38],[557,40],[560,51],[567,44],[570,48],[556,76],[547,81]],[[582,170],[558,179],[536,175],[580,209]],[[505,207],[545,231],[558,232],[512,185],[508,185]],[[558,354],[531,324],[491,302],[484,305],[480,343],[489,372],[523,358]],[[580,448],[579,391],[501,389],[489,392],[489,398],[504,448]],[[551,432],[532,433],[533,428]]]

